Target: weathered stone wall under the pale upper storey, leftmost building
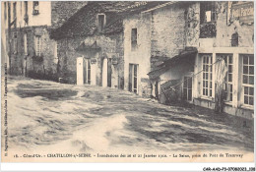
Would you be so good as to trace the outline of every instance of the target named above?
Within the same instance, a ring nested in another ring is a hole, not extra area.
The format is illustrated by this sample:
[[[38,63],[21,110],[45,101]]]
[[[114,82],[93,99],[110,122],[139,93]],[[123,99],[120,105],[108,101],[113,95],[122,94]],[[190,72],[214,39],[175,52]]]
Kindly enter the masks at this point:
[[[14,33],[17,32],[17,51],[14,48]],[[28,55],[25,54],[24,34],[27,33]],[[41,58],[35,57],[34,36],[41,36]],[[8,41],[7,41],[8,42]],[[13,75],[34,79],[57,80],[57,64],[54,61],[54,40],[49,38],[47,27],[29,27],[12,30],[11,70]],[[7,45],[9,52],[9,44]]]

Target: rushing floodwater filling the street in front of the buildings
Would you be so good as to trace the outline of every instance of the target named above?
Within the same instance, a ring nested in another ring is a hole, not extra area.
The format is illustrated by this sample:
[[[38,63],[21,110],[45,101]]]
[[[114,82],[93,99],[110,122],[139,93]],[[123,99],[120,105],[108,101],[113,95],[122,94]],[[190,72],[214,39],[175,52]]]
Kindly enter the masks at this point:
[[[246,125],[244,125],[246,123]],[[134,93],[8,78],[10,148],[253,151],[253,121]]]

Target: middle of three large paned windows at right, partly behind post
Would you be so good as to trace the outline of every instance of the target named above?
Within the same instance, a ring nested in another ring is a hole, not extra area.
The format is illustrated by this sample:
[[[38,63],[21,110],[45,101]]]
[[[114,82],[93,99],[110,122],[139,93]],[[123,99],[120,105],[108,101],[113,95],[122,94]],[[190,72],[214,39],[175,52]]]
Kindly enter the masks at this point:
[[[227,67],[227,74],[224,78],[224,100],[232,101],[232,73],[233,73],[233,56],[231,54],[220,54],[217,55],[217,58],[224,59],[224,63]]]

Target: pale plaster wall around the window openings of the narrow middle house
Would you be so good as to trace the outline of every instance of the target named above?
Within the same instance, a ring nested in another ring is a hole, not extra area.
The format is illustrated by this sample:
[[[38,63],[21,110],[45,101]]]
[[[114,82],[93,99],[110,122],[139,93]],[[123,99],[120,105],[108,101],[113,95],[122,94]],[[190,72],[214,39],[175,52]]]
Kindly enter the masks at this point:
[[[147,75],[151,71],[151,14],[133,15],[124,22],[124,81],[125,89],[129,89],[129,64],[139,65],[138,94],[150,96],[150,80]],[[132,50],[131,32],[137,29],[137,47]]]

